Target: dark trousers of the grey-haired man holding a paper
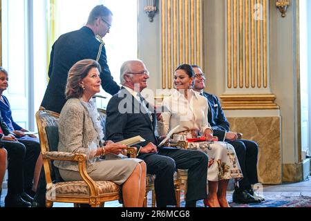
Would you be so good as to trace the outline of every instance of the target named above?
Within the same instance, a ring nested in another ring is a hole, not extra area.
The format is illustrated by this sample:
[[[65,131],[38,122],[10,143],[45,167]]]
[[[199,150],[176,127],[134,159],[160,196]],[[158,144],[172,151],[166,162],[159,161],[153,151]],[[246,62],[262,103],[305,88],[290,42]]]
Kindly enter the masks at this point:
[[[208,157],[200,151],[183,149],[160,149],[158,154],[142,159],[147,164],[147,173],[155,174],[157,206],[176,205],[173,174],[176,169],[188,169],[187,201],[207,197]]]

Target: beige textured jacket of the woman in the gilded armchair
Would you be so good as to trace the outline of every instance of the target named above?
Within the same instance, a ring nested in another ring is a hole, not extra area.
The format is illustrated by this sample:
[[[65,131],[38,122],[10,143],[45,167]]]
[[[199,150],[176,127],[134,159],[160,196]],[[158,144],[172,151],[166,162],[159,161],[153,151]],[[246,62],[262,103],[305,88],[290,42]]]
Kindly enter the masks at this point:
[[[85,153],[88,155],[88,145],[100,140],[93,126],[88,111],[77,98],[70,98],[59,115],[58,151],[68,153]],[[55,161],[59,169],[79,171],[77,162]],[[88,173],[97,169],[97,163],[86,164]]]

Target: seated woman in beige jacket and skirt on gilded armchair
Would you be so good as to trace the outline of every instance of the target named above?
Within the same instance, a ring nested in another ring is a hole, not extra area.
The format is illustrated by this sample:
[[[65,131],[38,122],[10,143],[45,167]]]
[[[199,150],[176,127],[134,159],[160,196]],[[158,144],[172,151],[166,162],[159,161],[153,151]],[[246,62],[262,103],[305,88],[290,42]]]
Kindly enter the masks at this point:
[[[100,92],[101,67],[97,61],[78,61],[68,73],[66,85],[67,102],[59,115],[58,151],[84,153],[88,157],[86,171],[93,180],[106,180],[122,185],[126,207],[142,206],[146,191],[146,164],[140,159],[118,155],[125,145],[111,141],[104,144],[104,133],[99,120],[93,95]],[[95,143],[95,148],[91,144]],[[105,155],[102,160],[101,155]],[[55,161],[65,181],[82,180],[77,162]]]

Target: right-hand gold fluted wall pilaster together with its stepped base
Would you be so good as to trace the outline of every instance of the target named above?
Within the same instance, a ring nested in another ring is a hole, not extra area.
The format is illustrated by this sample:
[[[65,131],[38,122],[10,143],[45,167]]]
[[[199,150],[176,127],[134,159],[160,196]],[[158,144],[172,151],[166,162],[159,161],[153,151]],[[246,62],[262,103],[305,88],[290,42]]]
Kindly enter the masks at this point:
[[[220,96],[226,110],[279,109],[270,92],[268,3],[227,0],[226,91]]]

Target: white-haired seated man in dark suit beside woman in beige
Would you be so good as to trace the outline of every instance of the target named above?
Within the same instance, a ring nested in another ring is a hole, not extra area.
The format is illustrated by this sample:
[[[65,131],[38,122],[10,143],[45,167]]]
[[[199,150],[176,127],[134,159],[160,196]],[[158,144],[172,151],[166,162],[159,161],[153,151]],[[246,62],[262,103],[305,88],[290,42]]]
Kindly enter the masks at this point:
[[[120,74],[123,87],[107,106],[106,139],[119,142],[140,135],[146,140],[135,146],[138,158],[147,164],[147,173],[156,175],[157,206],[176,205],[173,174],[176,169],[188,169],[186,206],[196,206],[197,200],[207,197],[207,155],[200,151],[158,147],[156,114],[140,95],[149,79],[146,66],[142,61],[126,61]]]

